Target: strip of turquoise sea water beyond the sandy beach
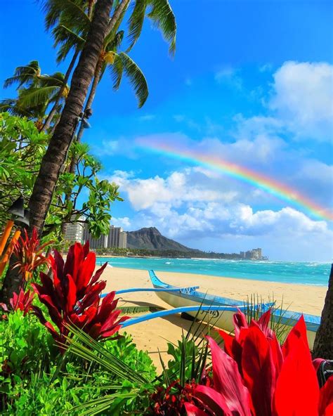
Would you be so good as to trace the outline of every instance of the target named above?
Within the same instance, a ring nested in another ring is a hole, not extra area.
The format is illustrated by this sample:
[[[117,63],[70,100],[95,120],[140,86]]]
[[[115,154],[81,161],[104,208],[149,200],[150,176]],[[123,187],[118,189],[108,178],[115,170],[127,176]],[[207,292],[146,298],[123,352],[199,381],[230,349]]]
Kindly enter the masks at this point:
[[[282,261],[246,261],[212,259],[141,259],[133,257],[98,257],[98,264],[105,261],[113,267],[141,270],[196,273],[227,276],[247,280],[296,283],[300,285],[326,286],[330,263],[285,263]],[[147,273],[148,276],[148,273]],[[163,280],[163,275],[159,276]],[[181,275],[179,277],[181,284]]]

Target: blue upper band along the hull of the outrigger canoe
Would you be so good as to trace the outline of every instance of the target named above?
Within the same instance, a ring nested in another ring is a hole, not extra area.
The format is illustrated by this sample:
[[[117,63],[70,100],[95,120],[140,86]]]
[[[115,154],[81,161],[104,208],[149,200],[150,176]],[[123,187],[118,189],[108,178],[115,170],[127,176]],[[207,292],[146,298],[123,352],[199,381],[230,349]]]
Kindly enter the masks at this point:
[[[149,271],[149,275],[150,275],[150,280],[152,280],[152,285],[154,285],[154,287],[164,287],[164,288],[175,288],[176,286],[173,285],[168,285],[164,282],[162,282],[162,280],[159,280],[159,278],[157,278],[157,275],[155,275],[155,272],[153,270]],[[224,304],[224,305],[230,305],[230,306],[235,306],[235,304],[244,304],[244,301],[238,301],[235,299],[230,299],[230,298],[225,298],[225,297],[218,297],[218,296],[214,296],[211,294],[205,294],[204,292],[197,292],[197,291],[193,291],[191,292],[190,295],[188,294],[181,294],[181,293],[177,293],[175,292],[174,295],[176,296],[180,296],[180,297],[185,297],[186,299],[190,299],[192,301],[196,301],[196,302],[202,302],[203,304],[207,304],[210,303],[212,304],[213,302],[216,304]],[[210,301],[210,302],[209,302]],[[268,308],[272,308],[274,306],[274,303],[270,303],[270,304],[264,304],[263,305],[263,310],[266,311]],[[316,316],[316,315],[310,315],[308,313],[299,313],[299,312],[294,312],[294,311],[287,311],[285,309],[279,309],[279,308],[273,308],[273,312],[274,315],[272,316],[273,320],[277,321],[280,320],[280,322],[283,325],[288,325],[288,326],[294,326],[296,324],[296,322],[299,320],[299,318],[301,318],[301,316],[303,315],[304,320],[306,322],[306,328],[309,331],[313,331],[313,332],[317,332],[318,327],[320,325],[320,316]]]

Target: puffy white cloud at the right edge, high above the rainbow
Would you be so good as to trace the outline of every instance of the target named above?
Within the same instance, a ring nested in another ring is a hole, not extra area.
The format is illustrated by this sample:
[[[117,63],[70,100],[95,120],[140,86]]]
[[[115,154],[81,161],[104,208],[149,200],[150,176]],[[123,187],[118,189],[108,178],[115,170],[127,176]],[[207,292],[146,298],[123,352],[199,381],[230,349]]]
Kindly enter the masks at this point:
[[[296,138],[332,139],[333,65],[284,63],[274,74],[269,107]]]

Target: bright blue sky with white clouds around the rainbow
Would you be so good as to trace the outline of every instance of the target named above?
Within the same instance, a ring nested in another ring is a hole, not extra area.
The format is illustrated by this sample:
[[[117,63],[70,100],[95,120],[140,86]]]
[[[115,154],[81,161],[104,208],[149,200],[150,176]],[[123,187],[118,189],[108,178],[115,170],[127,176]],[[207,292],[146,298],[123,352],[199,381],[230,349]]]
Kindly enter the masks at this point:
[[[146,22],[131,57],[148,80],[141,110],[124,79],[108,74],[84,140],[125,202],[112,209],[125,230],[156,226],[190,247],[272,259],[330,261],[332,223],[234,178],[152,155],[137,145],[173,143],[254,169],[332,209],[332,3],[170,0],[176,56]],[[37,4],[1,8],[0,79],[32,59],[55,70]],[[60,66],[65,70],[66,65]],[[1,90],[0,97],[13,95]]]

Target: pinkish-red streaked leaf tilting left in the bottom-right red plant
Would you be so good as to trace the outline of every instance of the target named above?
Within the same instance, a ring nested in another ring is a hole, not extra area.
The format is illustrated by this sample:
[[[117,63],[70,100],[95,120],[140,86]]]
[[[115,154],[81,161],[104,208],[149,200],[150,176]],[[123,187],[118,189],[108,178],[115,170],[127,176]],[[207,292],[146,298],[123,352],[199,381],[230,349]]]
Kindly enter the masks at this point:
[[[240,416],[250,416],[249,391],[242,384],[237,363],[216,344],[214,339],[211,337],[207,339],[211,348],[214,389],[221,393],[230,411],[239,412]]]

